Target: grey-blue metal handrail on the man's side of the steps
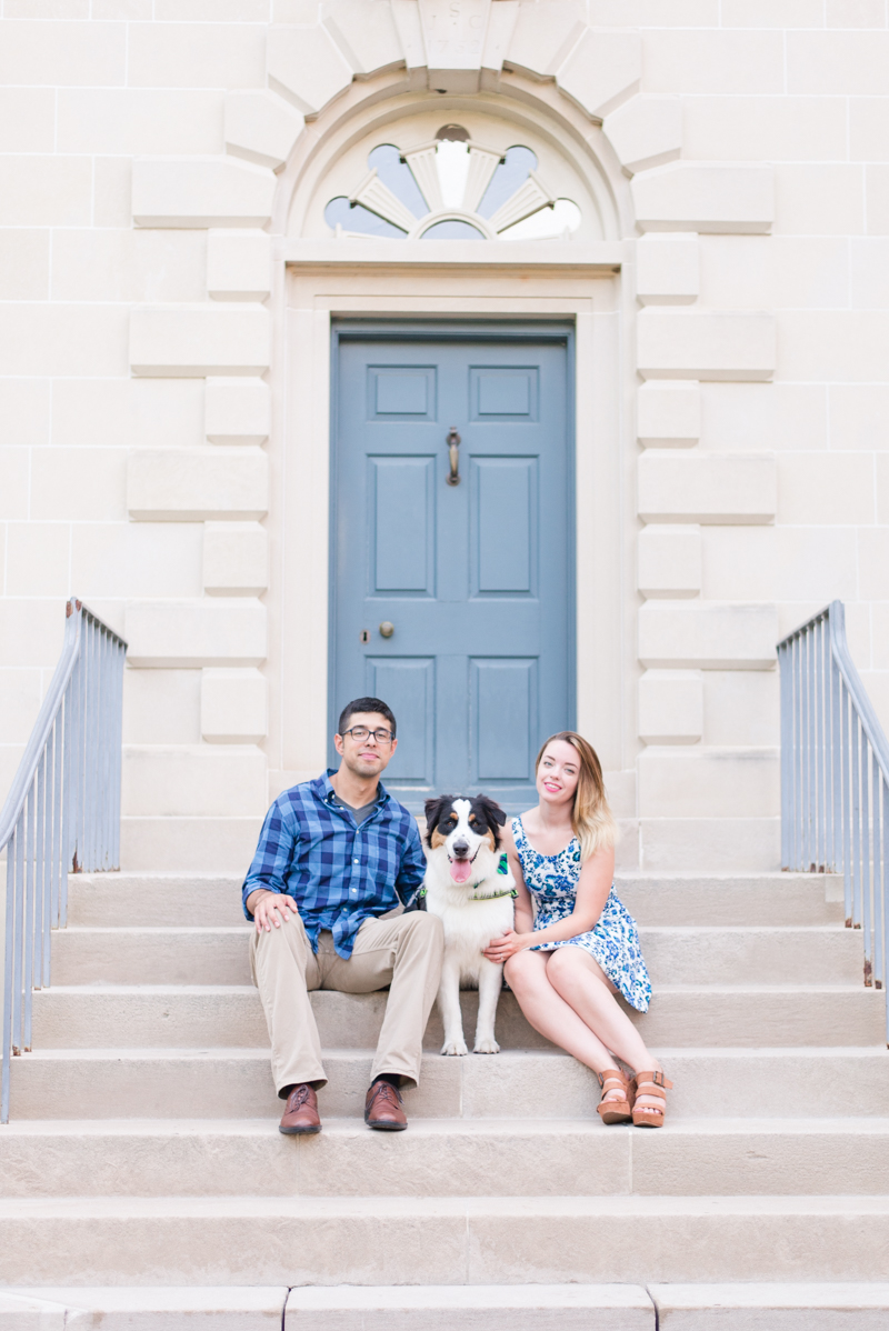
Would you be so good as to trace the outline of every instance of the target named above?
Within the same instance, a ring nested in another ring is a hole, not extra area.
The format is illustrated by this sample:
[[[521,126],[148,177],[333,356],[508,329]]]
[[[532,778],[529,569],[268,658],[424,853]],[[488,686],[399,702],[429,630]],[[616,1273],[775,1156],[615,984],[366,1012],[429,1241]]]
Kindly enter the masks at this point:
[[[7,852],[0,1123],[11,1058],[31,1050],[32,994],[51,980],[52,929],[68,920],[68,873],[120,865],[126,643],[80,600],[47,696],[0,809]]]

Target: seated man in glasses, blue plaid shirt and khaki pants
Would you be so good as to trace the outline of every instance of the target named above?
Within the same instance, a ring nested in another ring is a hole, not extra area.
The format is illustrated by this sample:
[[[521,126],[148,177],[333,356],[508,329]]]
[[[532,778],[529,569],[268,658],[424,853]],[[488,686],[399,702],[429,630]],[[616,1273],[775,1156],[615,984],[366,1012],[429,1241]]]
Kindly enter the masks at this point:
[[[419,1082],[423,1032],[442,970],[442,925],[407,910],[426,861],[417,823],[381,785],[398,740],[378,697],[339,716],[338,772],[285,791],[266,815],[244,882],[271,1070],[286,1101],[279,1131],[321,1131],[315,1091],[327,1081],[310,989],[370,993],[390,985],[371,1085],[370,1127],[407,1127],[401,1086]]]

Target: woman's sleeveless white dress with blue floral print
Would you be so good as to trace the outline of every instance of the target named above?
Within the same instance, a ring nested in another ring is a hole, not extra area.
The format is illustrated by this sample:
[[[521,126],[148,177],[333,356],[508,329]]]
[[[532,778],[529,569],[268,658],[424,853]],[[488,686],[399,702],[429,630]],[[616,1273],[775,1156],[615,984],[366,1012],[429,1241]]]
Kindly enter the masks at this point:
[[[530,845],[522,819],[512,819],[512,836],[524,884],[535,905],[534,928],[548,929],[574,910],[580,877],[580,844],[572,837],[558,855],[540,855]],[[639,946],[636,921],[614,886],[595,929],[560,942],[539,942],[530,950],[550,952],[552,948],[583,948],[632,1008],[648,1012],[651,980]]]

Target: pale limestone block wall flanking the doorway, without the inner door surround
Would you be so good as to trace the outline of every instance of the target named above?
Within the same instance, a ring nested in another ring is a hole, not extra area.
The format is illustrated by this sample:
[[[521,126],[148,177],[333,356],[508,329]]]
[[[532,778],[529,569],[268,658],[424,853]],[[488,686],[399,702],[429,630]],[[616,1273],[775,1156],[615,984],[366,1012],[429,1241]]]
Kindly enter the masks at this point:
[[[562,98],[602,136],[628,861],[775,862],[773,646],[834,596],[889,724],[885,0],[458,8],[475,45],[431,0],[3,3],[0,791],[73,591],[130,642],[132,864],[240,862],[281,765],[275,237],[343,98]]]

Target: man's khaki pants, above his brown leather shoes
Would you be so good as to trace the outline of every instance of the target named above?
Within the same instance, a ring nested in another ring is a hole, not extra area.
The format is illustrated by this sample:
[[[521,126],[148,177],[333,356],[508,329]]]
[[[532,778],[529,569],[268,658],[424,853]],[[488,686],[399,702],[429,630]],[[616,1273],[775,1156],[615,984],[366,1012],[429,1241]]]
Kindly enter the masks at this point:
[[[349,961],[337,956],[327,930],[318,936],[314,953],[302,920],[290,912],[279,929],[254,930],[250,968],[269,1024],[278,1093],[299,1082],[319,1087],[327,1081],[309,990],[366,994],[386,985],[391,988],[371,1081],[381,1073],[399,1073],[405,1083],[415,1086],[423,1032],[442,973],[442,921],[425,910],[365,920]]]

